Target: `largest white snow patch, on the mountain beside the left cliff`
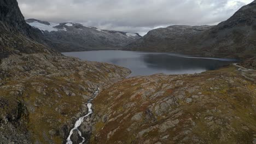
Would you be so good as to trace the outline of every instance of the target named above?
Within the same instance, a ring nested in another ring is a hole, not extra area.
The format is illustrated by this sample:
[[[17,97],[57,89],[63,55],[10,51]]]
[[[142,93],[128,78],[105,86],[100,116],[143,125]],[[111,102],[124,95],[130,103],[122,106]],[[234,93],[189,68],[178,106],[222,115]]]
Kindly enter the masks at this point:
[[[50,22],[50,25],[45,25],[45,24],[40,23],[38,21],[27,22],[27,24],[32,26],[32,27],[38,28],[41,31],[48,31],[48,32],[59,31],[59,29],[54,28],[54,27],[60,25],[60,23],[51,23],[51,22]]]

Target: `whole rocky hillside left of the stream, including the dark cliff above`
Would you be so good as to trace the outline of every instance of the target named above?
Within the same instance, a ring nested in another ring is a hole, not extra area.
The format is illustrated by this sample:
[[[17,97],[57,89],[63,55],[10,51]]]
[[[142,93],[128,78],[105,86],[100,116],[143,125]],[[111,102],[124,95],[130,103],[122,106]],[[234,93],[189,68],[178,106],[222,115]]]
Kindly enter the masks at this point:
[[[63,143],[95,89],[130,70],[39,44],[42,32],[27,25],[16,0],[0,1],[0,14],[0,143]]]

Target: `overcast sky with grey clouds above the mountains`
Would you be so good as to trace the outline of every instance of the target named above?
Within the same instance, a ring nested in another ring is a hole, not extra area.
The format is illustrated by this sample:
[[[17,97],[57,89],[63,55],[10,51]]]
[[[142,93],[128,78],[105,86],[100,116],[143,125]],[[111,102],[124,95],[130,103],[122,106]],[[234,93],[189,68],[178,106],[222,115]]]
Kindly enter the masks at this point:
[[[253,0],[18,0],[25,19],[80,22],[146,34],[170,25],[216,25]]]

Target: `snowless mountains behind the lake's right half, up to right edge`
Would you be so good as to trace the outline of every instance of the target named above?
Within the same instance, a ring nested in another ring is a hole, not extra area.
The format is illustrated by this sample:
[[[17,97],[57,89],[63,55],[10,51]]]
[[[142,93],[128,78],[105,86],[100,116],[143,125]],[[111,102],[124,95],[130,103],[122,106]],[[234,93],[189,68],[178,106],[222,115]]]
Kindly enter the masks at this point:
[[[181,52],[201,56],[256,53],[256,1],[217,26],[170,26],[154,29],[127,46],[136,51]]]

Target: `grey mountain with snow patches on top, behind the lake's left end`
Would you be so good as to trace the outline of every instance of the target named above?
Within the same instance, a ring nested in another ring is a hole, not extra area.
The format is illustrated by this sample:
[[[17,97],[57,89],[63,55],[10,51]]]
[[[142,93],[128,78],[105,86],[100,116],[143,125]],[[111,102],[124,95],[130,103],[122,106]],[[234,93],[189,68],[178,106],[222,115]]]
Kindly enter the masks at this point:
[[[102,30],[80,23],[53,23],[28,19],[26,22],[40,29],[44,42],[59,52],[121,49],[141,38],[137,33]]]

